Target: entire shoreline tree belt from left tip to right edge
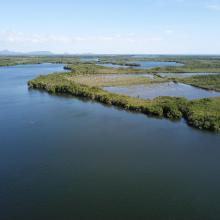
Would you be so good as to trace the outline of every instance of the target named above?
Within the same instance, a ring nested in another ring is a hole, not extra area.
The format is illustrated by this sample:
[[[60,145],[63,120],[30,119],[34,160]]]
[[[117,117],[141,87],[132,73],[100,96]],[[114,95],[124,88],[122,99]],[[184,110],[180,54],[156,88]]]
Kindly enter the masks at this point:
[[[39,76],[28,82],[30,88],[43,89],[54,94],[70,94],[107,105],[171,120],[185,117],[188,123],[199,129],[220,131],[220,97],[188,101],[184,98],[158,97],[154,100],[132,98],[109,93],[99,87],[74,81],[75,73]],[[71,80],[70,80],[71,79]]]

